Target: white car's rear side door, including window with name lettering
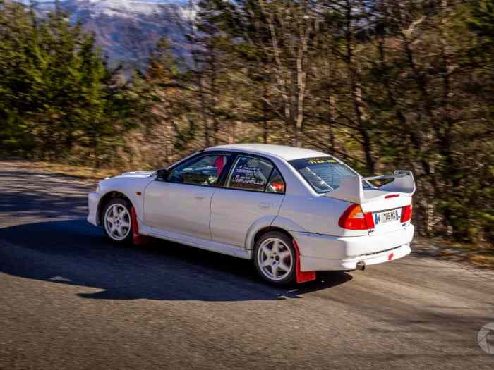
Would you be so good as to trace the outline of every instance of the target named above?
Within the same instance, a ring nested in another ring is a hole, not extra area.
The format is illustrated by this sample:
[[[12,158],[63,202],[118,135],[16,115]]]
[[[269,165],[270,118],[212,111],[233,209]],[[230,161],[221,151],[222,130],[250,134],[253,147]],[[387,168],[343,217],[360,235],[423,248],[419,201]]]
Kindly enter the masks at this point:
[[[243,247],[255,221],[277,216],[284,180],[268,159],[239,154],[211,202],[211,233],[215,242]]]

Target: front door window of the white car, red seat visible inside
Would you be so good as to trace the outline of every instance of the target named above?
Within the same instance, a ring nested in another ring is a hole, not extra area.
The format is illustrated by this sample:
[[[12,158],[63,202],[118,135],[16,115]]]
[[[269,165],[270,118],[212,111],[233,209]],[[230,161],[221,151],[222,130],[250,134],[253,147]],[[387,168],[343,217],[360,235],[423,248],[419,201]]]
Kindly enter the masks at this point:
[[[168,175],[169,183],[215,186],[227,164],[227,154],[206,154],[175,168]]]

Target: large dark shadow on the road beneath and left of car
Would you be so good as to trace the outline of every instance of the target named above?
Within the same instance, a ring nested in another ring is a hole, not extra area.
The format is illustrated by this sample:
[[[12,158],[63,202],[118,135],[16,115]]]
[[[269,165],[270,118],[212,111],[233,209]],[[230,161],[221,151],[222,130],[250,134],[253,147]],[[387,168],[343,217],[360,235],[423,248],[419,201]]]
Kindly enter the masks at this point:
[[[79,295],[106,300],[282,300],[351,280],[348,273],[325,272],[311,283],[272,287],[251,261],[162,240],[114,245],[84,219],[0,229],[0,272],[97,288]]]

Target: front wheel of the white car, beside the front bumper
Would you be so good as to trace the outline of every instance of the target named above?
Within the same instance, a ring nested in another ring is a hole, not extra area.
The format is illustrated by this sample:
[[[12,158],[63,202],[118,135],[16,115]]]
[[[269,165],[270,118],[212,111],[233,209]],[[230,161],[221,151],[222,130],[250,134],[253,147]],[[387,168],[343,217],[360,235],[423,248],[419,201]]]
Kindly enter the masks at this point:
[[[114,242],[128,242],[132,238],[131,204],[116,198],[108,202],[103,212],[103,230]]]

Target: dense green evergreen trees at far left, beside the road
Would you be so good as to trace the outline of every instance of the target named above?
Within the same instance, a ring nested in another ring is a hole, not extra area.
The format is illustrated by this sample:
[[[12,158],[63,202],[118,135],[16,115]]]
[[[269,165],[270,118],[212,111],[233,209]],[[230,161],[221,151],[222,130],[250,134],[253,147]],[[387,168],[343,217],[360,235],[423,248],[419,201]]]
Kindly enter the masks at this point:
[[[128,101],[91,34],[57,5],[46,18],[0,2],[2,151],[99,163],[131,127]],[[116,124],[118,121],[119,124]]]

